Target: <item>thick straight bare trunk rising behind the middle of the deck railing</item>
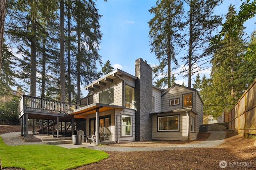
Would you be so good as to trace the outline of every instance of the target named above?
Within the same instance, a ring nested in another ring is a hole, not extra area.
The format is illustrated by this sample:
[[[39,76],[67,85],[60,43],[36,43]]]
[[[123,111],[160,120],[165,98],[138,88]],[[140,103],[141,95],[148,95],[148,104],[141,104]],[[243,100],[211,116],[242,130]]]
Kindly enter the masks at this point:
[[[65,102],[64,0],[60,0],[60,100]]]

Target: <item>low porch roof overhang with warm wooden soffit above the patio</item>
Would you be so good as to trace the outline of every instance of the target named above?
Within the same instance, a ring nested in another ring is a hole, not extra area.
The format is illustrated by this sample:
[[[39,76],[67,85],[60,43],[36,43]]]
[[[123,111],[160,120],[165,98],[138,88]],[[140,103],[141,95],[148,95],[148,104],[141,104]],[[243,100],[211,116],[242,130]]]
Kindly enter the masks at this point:
[[[108,111],[112,109],[125,109],[125,106],[116,106],[110,104],[93,103],[88,106],[84,106],[80,109],[70,111],[68,115],[74,115],[76,118],[86,118],[86,115],[95,114],[97,109],[99,112]]]

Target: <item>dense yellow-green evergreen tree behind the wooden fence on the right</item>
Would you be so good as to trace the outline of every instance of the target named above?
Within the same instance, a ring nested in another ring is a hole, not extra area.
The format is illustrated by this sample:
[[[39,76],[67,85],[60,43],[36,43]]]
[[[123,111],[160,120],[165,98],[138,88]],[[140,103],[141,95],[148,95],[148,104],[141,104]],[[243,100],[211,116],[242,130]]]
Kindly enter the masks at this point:
[[[228,13],[226,14],[226,20],[236,15],[234,6],[229,6]],[[211,63],[211,98],[207,98],[207,103],[211,107],[209,112],[218,117],[224,108],[230,109],[237,102],[242,95],[242,91],[246,90],[246,87],[241,83],[243,81],[248,82],[244,74],[244,67],[247,67],[244,60],[244,53],[246,51],[245,41],[242,38],[244,35],[244,27],[236,29],[236,37],[226,34],[224,39],[218,44]],[[250,69],[255,70],[251,67]],[[250,70],[249,69],[249,70]],[[242,82],[241,82],[242,80]],[[248,86],[247,86],[248,87]]]

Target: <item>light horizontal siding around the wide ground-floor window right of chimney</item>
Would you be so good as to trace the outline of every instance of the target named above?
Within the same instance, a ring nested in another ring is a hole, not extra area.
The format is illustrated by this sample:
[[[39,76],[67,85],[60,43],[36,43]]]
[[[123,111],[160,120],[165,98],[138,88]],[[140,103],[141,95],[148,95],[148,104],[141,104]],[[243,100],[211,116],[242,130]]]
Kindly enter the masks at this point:
[[[169,115],[180,115],[179,116],[179,131],[157,131],[158,130],[158,117],[169,116]],[[152,138],[154,140],[187,140],[187,119],[186,113],[180,112],[176,114],[159,114],[152,116]]]

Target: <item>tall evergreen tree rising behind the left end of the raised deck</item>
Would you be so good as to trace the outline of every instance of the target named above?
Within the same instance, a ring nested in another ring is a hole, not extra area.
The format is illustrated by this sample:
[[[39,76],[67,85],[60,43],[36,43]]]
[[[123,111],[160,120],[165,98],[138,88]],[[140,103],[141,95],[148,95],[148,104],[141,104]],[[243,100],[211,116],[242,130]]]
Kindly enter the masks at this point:
[[[12,44],[22,55],[20,58],[20,78],[30,79],[30,95],[36,96],[37,49],[40,33],[37,27],[56,11],[56,1],[8,0],[8,35]]]

